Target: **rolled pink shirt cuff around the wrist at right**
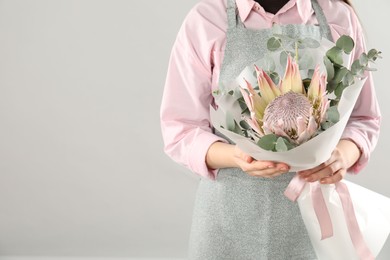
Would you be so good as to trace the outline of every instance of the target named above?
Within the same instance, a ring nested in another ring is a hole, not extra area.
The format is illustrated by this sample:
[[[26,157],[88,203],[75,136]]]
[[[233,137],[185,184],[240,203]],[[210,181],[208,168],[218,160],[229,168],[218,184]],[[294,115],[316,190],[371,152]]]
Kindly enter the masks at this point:
[[[341,139],[354,142],[361,152],[357,162],[348,169],[349,173],[358,174],[364,167],[366,167],[370,159],[370,148],[367,145],[367,141],[363,136],[354,132],[352,129],[345,129]]]

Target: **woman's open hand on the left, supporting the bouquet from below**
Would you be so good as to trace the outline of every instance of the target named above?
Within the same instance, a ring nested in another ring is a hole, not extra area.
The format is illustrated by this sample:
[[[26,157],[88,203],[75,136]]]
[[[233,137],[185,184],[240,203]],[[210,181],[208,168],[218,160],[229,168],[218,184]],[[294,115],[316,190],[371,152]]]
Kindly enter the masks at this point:
[[[234,148],[234,161],[244,172],[255,177],[273,178],[287,173],[290,169],[285,163],[257,161],[238,146]]]

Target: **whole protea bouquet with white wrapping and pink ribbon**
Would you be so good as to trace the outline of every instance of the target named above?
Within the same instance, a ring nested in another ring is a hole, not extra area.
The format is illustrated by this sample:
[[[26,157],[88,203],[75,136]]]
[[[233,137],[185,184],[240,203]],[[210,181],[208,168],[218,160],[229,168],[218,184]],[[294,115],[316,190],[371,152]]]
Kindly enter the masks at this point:
[[[381,54],[372,49],[352,61],[353,48],[349,36],[334,44],[274,35],[262,60],[214,92],[213,126],[255,159],[284,162],[291,171],[323,163],[365,71],[373,70],[368,64]],[[285,195],[298,202],[318,259],[373,259],[390,233],[390,199],[351,182],[321,185],[295,176]]]

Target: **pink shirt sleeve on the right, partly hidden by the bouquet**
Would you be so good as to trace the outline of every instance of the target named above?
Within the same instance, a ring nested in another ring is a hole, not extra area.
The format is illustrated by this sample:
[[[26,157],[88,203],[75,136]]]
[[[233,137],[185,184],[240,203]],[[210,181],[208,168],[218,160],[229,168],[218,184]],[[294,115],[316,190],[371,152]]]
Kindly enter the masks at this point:
[[[352,12],[352,25],[355,30],[355,52],[353,60],[359,58],[360,54],[366,52],[363,30],[357,16]],[[381,113],[375,94],[374,82],[371,73],[367,73],[367,80],[356,101],[351,117],[343,132],[342,139],[353,141],[360,149],[359,160],[349,169],[351,173],[360,172],[368,163],[370,154],[374,150],[379,137]]]

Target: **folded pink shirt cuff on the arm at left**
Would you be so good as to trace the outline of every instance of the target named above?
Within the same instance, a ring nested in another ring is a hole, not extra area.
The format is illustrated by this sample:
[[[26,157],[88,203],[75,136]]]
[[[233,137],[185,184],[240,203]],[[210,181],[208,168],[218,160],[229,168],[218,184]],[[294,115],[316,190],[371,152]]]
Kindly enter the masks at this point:
[[[218,169],[210,169],[206,164],[206,155],[210,146],[215,142],[225,142],[227,141],[217,135],[214,135],[210,132],[204,132],[198,136],[196,143],[192,145],[192,149],[189,153],[189,166],[190,169],[199,174],[202,177],[206,177],[212,180],[215,180],[217,177]]]

